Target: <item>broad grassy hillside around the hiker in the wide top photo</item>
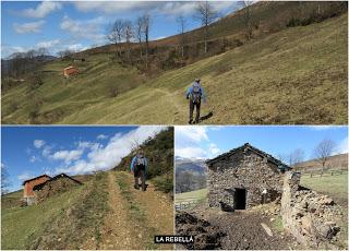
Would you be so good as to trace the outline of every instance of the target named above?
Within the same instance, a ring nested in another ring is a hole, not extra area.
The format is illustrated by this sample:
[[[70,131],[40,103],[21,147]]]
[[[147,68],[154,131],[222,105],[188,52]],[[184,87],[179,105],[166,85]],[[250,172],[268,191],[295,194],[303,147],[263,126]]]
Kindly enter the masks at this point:
[[[203,123],[346,123],[347,14],[252,40],[155,77],[88,56],[64,82],[64,62],[48,63],[44,84],[2,95],[3,123],[186,123],[185,88],[201,77]],[[118,95],[112,95],[112,88]]]

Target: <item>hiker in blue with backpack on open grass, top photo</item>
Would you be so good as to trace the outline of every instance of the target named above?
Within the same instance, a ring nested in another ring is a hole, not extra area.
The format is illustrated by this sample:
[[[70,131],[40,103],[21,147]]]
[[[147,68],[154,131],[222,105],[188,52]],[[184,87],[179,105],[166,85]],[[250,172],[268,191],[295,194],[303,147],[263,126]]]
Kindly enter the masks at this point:
[[[186,89],[185,97],[189,99],[189,123],[193,123],[194,108],[196,108],[196,116],[194,123],[200,122],[200,106],[201,99],[206,104],[206,95],[203,86],[201,86],[200,79],[195,79],[193,84]]]

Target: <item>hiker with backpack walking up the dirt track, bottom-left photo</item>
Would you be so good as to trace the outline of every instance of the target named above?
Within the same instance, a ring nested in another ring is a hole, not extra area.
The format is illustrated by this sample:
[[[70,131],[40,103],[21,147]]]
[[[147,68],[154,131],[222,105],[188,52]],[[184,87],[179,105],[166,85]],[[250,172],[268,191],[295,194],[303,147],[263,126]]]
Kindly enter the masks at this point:
[[[141,178],[142,190],[145,191],[146,184],[146,171],[148,167],[148,160],[144,156],[143,150],[140,150],[131,162],[131,171],[134,175],[134,188],[140,189],[139,180]]]

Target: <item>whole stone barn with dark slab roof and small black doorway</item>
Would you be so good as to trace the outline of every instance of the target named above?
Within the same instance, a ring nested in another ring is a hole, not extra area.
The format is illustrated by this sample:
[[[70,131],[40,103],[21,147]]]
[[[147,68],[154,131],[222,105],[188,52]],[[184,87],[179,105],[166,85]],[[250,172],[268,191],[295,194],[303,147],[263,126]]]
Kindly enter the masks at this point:
[[[206,162],[208,204],[224,211],[245,210],[279,200],[289,166],[245,143]]]

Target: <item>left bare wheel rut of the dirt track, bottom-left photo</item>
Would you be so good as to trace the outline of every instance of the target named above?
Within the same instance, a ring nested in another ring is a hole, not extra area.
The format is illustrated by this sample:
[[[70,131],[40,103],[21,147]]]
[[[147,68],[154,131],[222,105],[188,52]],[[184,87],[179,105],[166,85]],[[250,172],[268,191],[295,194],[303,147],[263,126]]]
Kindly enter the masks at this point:
[[[140,241],[133,239],[136,236],[134,232],[136,226],[128,219],[127,203],[117,186],[113,172],[108,174],[108,190],[111,212],[105,219],[99,249],[140,249]]]

